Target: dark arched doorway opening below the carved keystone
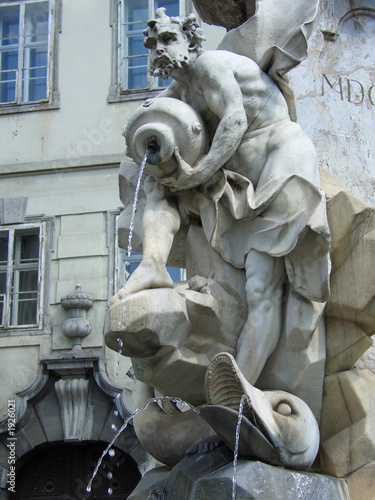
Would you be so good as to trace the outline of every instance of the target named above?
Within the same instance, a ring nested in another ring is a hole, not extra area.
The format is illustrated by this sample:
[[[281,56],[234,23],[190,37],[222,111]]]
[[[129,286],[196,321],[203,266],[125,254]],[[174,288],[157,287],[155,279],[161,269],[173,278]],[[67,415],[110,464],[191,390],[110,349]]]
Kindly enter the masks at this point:
[[[106,443],[61,443],[27,453],[16,468],[16,493],[10,500],[102,500],[129,496],[141,479],[134,460],[119,449],[107,454],[86,486]]]

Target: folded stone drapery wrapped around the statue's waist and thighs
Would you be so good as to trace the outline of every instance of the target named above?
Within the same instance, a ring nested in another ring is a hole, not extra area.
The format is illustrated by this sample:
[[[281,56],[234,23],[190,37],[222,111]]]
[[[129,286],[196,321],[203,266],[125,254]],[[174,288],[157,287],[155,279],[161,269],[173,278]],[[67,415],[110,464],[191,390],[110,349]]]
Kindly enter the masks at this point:
[[[327,299],[330,235],[320,189],[297,174],[254,189],[244,175],[227,169],[205,188],[197,194],[202,226],[224,260],[244,268],[251,249],[284,257],[288,280],[299,294]]]

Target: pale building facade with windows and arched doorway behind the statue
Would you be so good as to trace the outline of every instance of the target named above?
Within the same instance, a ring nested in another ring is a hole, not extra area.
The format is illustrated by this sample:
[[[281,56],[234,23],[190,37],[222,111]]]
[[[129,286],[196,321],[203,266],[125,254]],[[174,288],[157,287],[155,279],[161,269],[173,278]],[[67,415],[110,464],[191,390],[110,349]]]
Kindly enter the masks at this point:
[[[159,3],[0,2],[2,499],[83,498],[131,410],[130,364],[104,346],[103,325],[124,278],[122,128],[165,86],[142,34]],[[131,426],[113,450],[90,498],[125,498],[139,480],[147,456]]]

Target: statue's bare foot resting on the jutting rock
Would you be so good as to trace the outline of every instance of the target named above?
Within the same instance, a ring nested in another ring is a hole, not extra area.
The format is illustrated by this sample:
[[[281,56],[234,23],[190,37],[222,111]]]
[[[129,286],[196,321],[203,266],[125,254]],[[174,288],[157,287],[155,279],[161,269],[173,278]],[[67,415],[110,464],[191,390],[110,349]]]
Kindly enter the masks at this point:
[[[173,280],[164,264],[143,259],[126,284],[111,298],[110,305],[126,295],[150,288],[173,288]]]

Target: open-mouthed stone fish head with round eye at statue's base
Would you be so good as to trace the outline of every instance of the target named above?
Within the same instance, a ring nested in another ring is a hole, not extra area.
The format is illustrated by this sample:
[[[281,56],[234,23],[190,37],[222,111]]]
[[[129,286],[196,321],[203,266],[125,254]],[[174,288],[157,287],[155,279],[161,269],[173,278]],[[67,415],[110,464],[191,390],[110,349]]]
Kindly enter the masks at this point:
[[[260,391],[244,378],[229,353],[215,356],[207,369],[208,406],[200,415],[232,449],[238,407],[246,395],[239,454],[295,469],[311,466],[319,448],[318,424],[302,399],[284,391]],[[235,417],[233,418],[233,411]]]

